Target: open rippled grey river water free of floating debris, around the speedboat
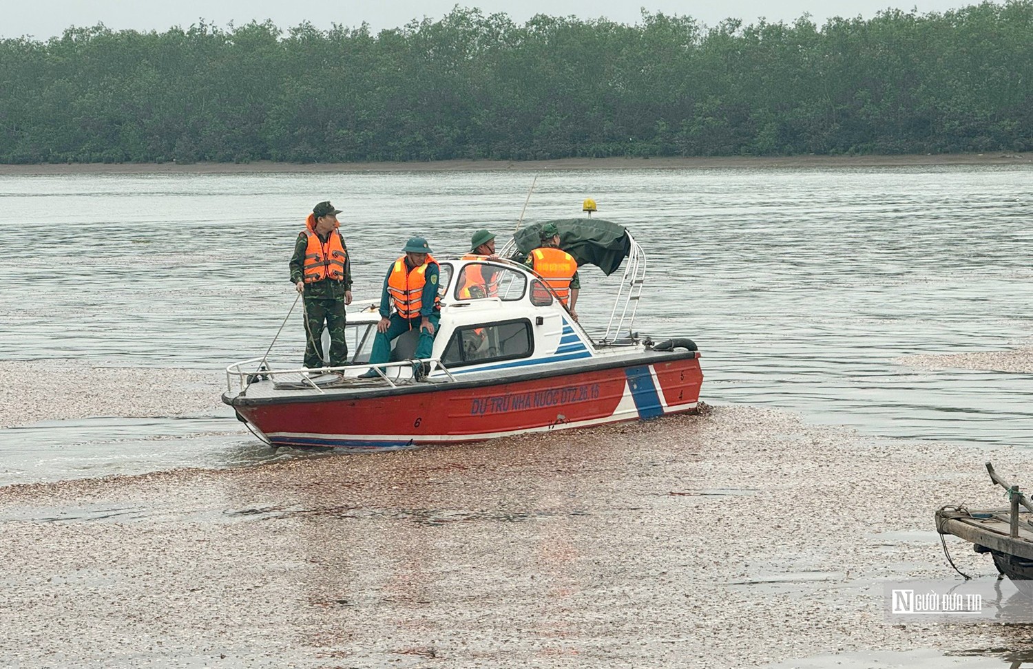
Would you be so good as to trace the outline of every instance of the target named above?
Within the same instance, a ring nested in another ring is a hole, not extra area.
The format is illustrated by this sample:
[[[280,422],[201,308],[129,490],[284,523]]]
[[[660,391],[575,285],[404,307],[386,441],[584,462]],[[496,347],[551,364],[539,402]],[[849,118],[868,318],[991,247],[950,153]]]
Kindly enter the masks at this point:
[[[294,298],[293,240],[313,203],[344,210],[357,304],[411,234],[440,254],[504,242],[526,171],[0,177],[0,360],[186,368],[260,355]],[[1027,345],[1033,169],[545,170],[525,220],[597,216],[649,257],[637,328],[691,337],[708,404],[799,412],[873,437],[1029,442],[1024,374],[899,358]],[[500,244],[501,246],[501,244]],[[602,329],[616,277],[582,270]],[[298,314],[273,351],[298,362]],[[228,409],[0,429],[0,485],[276,457]],[[0,424],[6,424],[0,419]],[[281,455],[282,456],[282,455]]]

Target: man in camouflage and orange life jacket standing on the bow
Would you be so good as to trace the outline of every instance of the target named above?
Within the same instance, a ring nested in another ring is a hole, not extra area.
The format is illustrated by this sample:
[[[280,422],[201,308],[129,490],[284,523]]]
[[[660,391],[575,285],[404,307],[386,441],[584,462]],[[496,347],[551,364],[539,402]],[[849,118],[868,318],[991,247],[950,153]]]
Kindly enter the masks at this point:
[[[330,329],[330,367],[348,363],[344,307],[351,304],[351,262],[338,229],[340,213],[328,201],[312,208],[290,258],[290,281],[304,298],[307,368],[323,365],[323,323]]]

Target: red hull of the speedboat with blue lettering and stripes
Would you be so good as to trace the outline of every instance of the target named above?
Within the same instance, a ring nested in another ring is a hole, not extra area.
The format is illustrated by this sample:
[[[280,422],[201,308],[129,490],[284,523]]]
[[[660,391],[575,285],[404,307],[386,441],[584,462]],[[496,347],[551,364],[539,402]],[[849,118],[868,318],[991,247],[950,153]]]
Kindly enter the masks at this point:
[[[224,397],[271,444],[392,448],[481,441],[693,411],[695,352],[520,379],[415,384],[406,392]]]

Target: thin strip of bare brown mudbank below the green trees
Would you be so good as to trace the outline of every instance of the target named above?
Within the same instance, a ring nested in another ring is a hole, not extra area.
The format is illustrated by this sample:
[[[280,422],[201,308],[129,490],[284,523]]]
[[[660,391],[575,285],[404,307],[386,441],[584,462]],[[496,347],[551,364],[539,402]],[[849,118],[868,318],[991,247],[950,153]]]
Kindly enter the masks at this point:
[[[1029,165],[1033,153],[918,154],[903,156],[720,156],[710,158],[562,158],[558,160],[441,160],[430,162],[368,163],[67,163],[0,165],[0,176],[53,174],[226,174],[334,173],[366,171],[469,171],[550,169],[777,169],[839,167],[910,167],[943,165]]]

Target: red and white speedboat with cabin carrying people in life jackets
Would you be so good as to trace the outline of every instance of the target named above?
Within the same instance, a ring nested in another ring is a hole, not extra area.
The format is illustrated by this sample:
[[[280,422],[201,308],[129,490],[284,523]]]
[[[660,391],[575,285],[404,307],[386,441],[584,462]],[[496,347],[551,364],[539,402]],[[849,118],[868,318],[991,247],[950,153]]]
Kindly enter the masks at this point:
[[[564,248],[585,262],[593,254],[578,254],[574,237],[587,225],[622,233],[617,248],[627,258],[624,278],[606,331],[597,339],[528,267],[439,257],[441,321],[429,364],[410,359],[415,334],[405,334],[396,340],[392,361],[378,365],[380,378],[358,378],[370,369],[379,315],[350,313],[349,365],[313,372],[270,369],[264,358],[237,362],[226,369],[223,402],[272,445],[315,447],[470,442],[694,411],[702,383],[695,344],[687,338],[654,343],[632,333],[645,279],[641,249],[612,223],[554,223]],[[514,238],[528,246],[537,229]],[[526,253],[516,242],[500,255],[507,250]],[[606,254],[613,260],[613,248]],[[617,268],[609,265],[603,270]],[[460,298],[474,266],[494,276],[494,296]]]

